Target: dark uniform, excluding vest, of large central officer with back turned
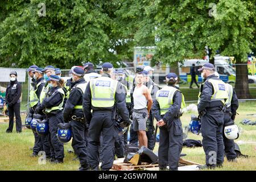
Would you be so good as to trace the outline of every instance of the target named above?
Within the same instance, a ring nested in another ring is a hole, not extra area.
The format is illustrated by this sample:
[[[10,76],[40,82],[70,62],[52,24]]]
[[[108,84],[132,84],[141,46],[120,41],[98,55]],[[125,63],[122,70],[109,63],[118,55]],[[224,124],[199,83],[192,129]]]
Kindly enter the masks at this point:
[[[102,76],[110,77],[104,73]],[[115,127],[115,118],[113,117],[113,107],[93,107],[91,104],[92,94],[90,90],[90,82],[85,90],[83,97],[83,110],[86,121],[89,122],[89,138],[88,138],[88,162],[92,170],[97,170],[99,165],[100,135],[102,134],[102,170],[109,170],[113,166],[114,161],[114,142],[118,137],[118,129]],[[129,120],[129,113],[126,108],[126,97],[123,86],[118,83],[115,93],[115,104],[119,110],[121,118],[124,121]],[[90,113],[90,110],[93,113]]]

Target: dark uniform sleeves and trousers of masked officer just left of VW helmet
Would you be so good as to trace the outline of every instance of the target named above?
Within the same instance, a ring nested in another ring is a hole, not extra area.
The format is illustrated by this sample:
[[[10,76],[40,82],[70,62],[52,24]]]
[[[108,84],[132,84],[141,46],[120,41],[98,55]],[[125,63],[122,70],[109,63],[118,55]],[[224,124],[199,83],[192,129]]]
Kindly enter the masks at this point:
[[[59,86],[50,88],[46,95],[48,98],[44,98],[41,107],[51,109],[52,107],[59,106],[63,102],[63,94],[57,92]],[[59,162],[63,162],[64,158],[64,146],[57,139],[57,125],[63,123],[63,114],[61,110],[52,110],[50,113],[46,113],[46,117],[49,121],[49,144],[51,146],[51,158],[55,158]],[[53,149],[53,150],[52,150]]]

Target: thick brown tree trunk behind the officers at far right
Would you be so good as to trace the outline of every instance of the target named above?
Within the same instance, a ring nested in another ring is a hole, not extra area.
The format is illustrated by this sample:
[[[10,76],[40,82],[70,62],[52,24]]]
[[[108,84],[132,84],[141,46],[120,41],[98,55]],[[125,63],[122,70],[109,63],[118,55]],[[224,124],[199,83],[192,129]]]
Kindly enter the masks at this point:
[[[241,59],[236,60],[236,64],[238,64],[236,65],[236,85],[235,85],[237,97],[239,99],[252,98],[249,91],[247,64],[243,63]]]

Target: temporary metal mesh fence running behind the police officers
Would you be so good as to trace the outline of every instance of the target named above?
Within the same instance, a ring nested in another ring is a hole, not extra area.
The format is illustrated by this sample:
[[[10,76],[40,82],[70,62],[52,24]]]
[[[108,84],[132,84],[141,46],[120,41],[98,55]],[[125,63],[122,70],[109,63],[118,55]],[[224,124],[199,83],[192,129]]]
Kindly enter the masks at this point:
[[[240,64],[241,65],[241,64]],[[216,64],[215,68],[218,74],[220,75],[221,80],[224,82],[229,82],[233,86],[236,84],[236,77],[241,76],[247,76],[248,82],[249,82],[249,92],[252,96],[252,99],[250,100],[256,100],[256,63],[252,64],[242,64],[247,65],[248,73],[244,75],[237,75],[236,73],[236,67],[237,64]],[[152,80],[159,86],[163,87],[165,85],[164,80],[165,76],[169,72],[176,72],[179,74],[179,87],[180,90],[183,92],[185,96],[185,100],[187,102],[196,102],[197,101],[197,95],[199,93],[199,90],[197,89],[197,86],[195,82],[193,82],[192,87],[190,88],[190,84],[192,81],[191,71],[192,68],[194,68],[196,72],[196,82],[198,85],[200,85],[200,82],[202,81],[201,74],[197,72],[197,69],[199,69],[202,65],[195,64],[195,67],[191,67],[190,65],[181,65],[179,64],[179,67],[153,67],[154,73],[151,76]],[[119,69],[119,68],[116,68]],[[129,81],[132,81],[135,77],[135,68],[122,68],[125,73],[126,77],[129,77]],[[69,77],[69,71],[70,69],[63,69],[61,70],[61,76],[62,77]],[[96,69],[98,73],[100,73],[100,69]],[[27,73],[26,73],[27,74]],[[26,75],[27,79],[26,82],[22,82],[22,109],[26,109],[24,105],[26,105],[28,101],[28,95],[30,90],[30,78],[28,77],[28,74]],[[7,84],[9,82],[0,82],[0,85],[4,88],[7,87]],[[239,89],[239,88],[238,88]],[[242,88],[241,88],[242,89]],[[5,91],[5,90],[4,90]],[[3,96],[3,92],[1,93]]]

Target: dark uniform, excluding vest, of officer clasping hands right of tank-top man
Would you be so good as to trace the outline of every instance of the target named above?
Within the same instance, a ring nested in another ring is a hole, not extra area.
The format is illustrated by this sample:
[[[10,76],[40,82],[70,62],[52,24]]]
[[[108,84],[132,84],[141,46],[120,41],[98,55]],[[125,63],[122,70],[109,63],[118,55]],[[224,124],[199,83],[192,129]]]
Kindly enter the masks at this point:
[[[176,86],[174,87],[177,88]],[[166,114],[160,115],[160,106],[157,100],[154,101],[151,109],[157,121],[163,119],[166,123],[166,125],[159,127],[160,140],[158,160],[160,169],[164,169],[167,166],[169,166],[169,169],[172,171],[177,171],[178,169],[180,153],[183,146],[183,138],[181,121],[180,118],[176,117],[176,115],[180,111],[181,101],[181,93],[176,92],[174,94],[173,104],[169,107]]]

